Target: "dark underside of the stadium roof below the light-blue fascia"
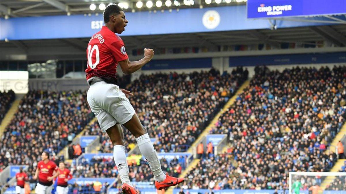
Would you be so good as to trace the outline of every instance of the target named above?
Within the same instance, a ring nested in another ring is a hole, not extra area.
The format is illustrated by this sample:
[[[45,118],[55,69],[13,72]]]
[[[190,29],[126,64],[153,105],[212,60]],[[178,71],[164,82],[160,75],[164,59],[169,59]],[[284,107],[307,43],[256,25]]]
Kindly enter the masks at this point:
[[[333,26],[312,26],[300,28],[280,28],[277,30],[241,30],[209,33],[184,33],[171,35],[150,35],[150,36],[122,36],[126,49],[143,49],[145,47],[154,48],[183,48],[201,47],[208,48],[230,45],[256,45],[266,43],[280,48],[280,43],[305,43],[316,45],[318,41],[331,42],[335,47],[346,46],[346,25]],[[24,51],[35,51],[44,53],[46,50],[73,51],[75,57],[85,57],[86,45],[90,38],[74,39],[43,39],[43,40],[16,40],[9,42],[1,41],[0,49]],[[323,42],[322,42],[323,43]],[[316,45],[319,47],[319,45]],[[30,59],[31,52],[27,52]],[[59,56],[56,53],[56,56]],[[2,59],[3,60],[3,59]]]

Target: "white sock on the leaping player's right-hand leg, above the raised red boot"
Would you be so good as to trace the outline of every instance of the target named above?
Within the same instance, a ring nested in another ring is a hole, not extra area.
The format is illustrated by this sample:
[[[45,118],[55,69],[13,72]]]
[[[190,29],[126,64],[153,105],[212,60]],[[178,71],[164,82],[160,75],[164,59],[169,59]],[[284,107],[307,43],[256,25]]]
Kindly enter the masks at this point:
[[[140,152],[149,163],[155,180],[158,182],[164,181],[166,179],[166,175],[162,172],[160,161],[158,159],[156,150],[154,149],[154,146],[150,141],[149,135],[146,133],[142,136],[139,136],[136,140]]]

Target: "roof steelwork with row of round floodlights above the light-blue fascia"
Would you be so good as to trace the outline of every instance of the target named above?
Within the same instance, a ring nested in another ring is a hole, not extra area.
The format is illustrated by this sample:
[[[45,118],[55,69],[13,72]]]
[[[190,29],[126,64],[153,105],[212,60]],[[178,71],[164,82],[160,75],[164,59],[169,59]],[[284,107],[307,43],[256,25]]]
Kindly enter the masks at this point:
[[[137,8],[136,3],[139,0],[115,0],[115,1],[102,1],[102,0],[1,0],[0,13],[2,17],[26,17],[26,16],[47,16],[47,15],[64,15],[64,14],[89,14],[89,13],[102,13],[98,7],[101,3],[106,6],[109,3],[127,3],[128,9],[125,11],[147,11],[147,10],[162,10],[162,9],[177,9],[177,8],[198,8],[215,7],[215,6],[229,6],[229,5],[244,5],[244,0],[231,0],[229,3],[221,2],[220,4],[210,3],[206,4],[204,0],[194,0],[193,5],[186,6],[183,0],[177,0],[179,6],[160,8],[154,6],[151,9],[143,5],[142,8]],[[154,0],[153,0],[154,1]],[[161,0],[165,4],[165,0]],[[186,0],[185,0],[186,1]],[[241,2],[237,2],[241,1]],[[154,1],[155,2],[155,1]],[[173,0],[172,0],[173,2]],[[95,4],[96,9],[90,10],[90,5]]]

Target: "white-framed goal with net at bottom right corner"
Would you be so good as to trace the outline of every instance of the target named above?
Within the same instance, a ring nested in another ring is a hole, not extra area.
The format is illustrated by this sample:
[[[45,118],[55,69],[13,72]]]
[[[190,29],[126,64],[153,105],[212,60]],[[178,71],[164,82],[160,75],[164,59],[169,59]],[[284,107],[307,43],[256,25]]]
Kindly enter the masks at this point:
[[[289,194],[346,194],[346,172],[290,172]]]

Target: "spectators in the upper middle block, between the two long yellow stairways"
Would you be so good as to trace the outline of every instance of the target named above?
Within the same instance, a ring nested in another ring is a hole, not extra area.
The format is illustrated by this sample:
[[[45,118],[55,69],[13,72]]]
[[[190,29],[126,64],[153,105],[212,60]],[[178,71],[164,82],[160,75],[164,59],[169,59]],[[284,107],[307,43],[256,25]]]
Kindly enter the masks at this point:
[[[184,152],[247,79],[248,71],[237,68],[228,74],[211,69],[190,74],[142,75],[126,86],[129,100],[149,136],[156,138],[158,152]],[[102,152],[113,152],[107,134],[97,122],[86,135],[100,135]],[[124,130],[127,151],[136,139]]]

